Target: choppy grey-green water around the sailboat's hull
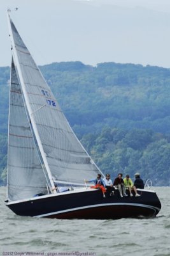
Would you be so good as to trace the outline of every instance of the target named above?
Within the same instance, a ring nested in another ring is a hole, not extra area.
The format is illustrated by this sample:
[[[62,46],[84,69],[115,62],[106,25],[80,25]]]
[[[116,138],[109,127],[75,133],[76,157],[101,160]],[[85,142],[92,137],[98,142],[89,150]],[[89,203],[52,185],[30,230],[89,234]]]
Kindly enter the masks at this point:
[[[50,220],[15,215],[1,187],[0,255],[170,256],[170,188],[154,189],[162,204],[156,218]]]

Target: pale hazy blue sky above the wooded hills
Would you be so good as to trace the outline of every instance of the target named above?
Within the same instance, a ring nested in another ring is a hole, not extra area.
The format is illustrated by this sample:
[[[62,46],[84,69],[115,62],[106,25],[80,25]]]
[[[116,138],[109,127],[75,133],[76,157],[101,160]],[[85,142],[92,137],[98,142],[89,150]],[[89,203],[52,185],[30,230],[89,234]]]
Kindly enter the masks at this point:
[[[60,61],[170,68],[170,0],[0,0],[0,67],[10,66],[7,8],[38,65]]]

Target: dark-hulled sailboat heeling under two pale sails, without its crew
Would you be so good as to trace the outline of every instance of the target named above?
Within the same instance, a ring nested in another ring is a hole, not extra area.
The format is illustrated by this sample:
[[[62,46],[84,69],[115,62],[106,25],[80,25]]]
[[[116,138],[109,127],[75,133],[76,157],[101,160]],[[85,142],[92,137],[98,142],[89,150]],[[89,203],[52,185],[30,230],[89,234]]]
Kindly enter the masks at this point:
[[[20,216],[117,219],[156,216],[156,193],[121,198],[90,188],[99,170],[71,129],[10,13],[11,79],[5,204]],[[55,189],[57,184],[58,191]],[[64,189],[63,189],[64,188]]]

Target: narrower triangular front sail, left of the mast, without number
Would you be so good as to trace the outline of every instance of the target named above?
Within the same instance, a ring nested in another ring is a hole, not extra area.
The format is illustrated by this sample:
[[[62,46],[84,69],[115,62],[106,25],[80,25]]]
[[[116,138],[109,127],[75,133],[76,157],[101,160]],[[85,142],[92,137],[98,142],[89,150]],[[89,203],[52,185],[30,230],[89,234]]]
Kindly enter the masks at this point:
[[[47,193],[45,174],[32,138],[13,60],[9,113],[8,198],[21,200],[38,193]]]

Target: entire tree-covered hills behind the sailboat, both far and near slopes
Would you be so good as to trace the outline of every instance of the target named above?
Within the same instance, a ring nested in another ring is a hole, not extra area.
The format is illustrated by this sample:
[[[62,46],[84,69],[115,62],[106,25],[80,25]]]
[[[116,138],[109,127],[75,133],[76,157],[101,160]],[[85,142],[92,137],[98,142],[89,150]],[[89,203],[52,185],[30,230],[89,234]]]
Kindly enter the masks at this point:
[[[170,70],[80,61],[39,67],[74,132],[101,171],[169,186]],[[0,67],[0,184],[6,184],[10,68]]]

